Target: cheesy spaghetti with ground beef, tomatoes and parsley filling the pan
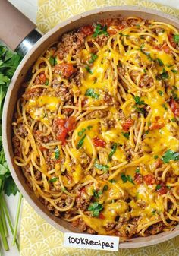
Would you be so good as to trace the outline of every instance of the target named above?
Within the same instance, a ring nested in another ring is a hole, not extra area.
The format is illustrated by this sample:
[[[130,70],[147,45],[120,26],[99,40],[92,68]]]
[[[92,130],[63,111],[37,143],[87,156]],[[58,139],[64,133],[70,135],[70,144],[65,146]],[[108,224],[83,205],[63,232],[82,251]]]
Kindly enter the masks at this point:
[[[154,235],[179,222],[179,32],[139,17],[65,33],[14,116],[14,163],[82,232]]]

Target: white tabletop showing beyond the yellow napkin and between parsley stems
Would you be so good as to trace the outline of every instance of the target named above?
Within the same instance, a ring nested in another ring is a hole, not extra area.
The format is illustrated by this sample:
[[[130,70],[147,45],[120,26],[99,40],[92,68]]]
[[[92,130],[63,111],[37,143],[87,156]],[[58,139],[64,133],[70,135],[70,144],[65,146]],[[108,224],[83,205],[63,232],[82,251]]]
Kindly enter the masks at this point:
[[[13,4],[14,6],[16,6],[27,17],[29,17],[31,21],[36,23],[36,12],[37,12],[38,0],[9,0],[9,2],[11,2],[11,4]],[[170,1],[155,0],[153,2],[157,2],[162,5],[170,5],[171,7],[179,9],[179,0],[170,0]],[[9,210],[11,213],[11,218],[13,221],[15,219],[16,211],[14,209],[16,209],[16,207],[17,207],[17,199],[18,199],[18,195],[15,197],[11,196],[11,197],[7,198],[8,207],[9,207]],[[18,232],[19,232],[19,230],[18,230]],[[9,232],[9,234],[10,234],[10,232]],[[10,235],[9,239],[8,239],[10,251],[3,251],[3,256],[19,256],[19,252],[17,251],[17,248],[15,246],[14,247],[11,246],[11,241],[12,241],[12,237]],[[0,247],[1,247],[1,245],[0,245]]]

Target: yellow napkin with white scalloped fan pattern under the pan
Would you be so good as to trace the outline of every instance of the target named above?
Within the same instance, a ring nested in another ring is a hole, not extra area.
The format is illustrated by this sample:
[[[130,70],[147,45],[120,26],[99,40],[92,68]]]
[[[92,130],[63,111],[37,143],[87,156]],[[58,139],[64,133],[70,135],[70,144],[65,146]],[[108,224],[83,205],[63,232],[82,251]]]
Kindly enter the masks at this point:
[[[143,0],[39,0],[37,25],[46,33],[56,24],[75,14],[109,5],[140,5],[158,9],[175,17],[179,11],[168,6]],[[24,200],[20,229],[20,256],[178,256],[179,236],[159,245],[119,252],[83,250],[63,247],[63,233],[42,220]]]

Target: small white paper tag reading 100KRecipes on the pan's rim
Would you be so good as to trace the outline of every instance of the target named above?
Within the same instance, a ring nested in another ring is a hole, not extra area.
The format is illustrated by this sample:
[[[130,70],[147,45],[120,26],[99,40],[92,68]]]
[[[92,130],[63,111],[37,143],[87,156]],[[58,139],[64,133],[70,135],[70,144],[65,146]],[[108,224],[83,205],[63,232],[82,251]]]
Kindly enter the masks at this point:
[[[116,236],[64,233],[65,247],[118,251],[118,245],[119,237]]]

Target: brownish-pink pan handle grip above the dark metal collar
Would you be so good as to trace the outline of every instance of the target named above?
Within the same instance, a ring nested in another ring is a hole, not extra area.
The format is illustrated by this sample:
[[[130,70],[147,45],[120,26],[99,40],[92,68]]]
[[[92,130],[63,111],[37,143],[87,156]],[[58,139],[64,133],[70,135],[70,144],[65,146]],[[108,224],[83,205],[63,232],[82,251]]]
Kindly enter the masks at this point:
[[[36,25],[7,0],[0,0],[0,40],[12,50],[27,37]]]

